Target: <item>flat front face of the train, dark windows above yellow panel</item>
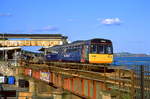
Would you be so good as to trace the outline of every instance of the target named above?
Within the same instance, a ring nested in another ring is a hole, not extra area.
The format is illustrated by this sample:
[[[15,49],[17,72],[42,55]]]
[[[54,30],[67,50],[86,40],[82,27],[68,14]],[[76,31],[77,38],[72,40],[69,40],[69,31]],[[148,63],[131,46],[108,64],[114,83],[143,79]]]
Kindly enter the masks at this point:
[[[111,43],[91,44],[89,53],[90,63],[112,63],[113,47]]]

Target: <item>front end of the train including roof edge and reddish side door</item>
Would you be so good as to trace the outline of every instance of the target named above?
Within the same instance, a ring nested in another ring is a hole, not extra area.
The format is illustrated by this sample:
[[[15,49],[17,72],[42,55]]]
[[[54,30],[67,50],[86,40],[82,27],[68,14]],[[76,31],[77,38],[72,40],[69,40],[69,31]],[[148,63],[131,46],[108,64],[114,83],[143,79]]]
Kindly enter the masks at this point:
[[[82,48],[81,62],[112,63],[113,46],[107,39],[92,39],[87,41]]]

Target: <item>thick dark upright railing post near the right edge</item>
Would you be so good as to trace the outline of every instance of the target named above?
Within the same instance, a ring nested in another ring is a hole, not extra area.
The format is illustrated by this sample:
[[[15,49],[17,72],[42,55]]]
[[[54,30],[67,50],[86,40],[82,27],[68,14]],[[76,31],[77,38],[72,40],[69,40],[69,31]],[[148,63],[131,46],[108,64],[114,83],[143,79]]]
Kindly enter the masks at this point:
[[[141,65],[141,99],[144,99],[144,66]]]

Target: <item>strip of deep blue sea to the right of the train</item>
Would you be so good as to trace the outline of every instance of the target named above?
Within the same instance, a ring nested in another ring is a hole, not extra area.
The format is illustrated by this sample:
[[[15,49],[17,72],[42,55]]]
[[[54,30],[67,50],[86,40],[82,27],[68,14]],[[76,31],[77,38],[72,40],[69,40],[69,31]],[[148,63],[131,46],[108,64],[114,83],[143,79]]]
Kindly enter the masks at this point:
[[[113,65],[149,65],[150,57],[114,57]]]

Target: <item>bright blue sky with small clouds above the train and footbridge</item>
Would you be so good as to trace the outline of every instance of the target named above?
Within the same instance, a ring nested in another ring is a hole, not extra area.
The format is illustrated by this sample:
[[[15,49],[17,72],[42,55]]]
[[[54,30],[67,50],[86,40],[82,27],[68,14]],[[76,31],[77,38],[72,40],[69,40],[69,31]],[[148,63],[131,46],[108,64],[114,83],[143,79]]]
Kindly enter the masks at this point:
[[[114,52],[150,54],[150,0],[0,0],[0,33],[105,38]]]

